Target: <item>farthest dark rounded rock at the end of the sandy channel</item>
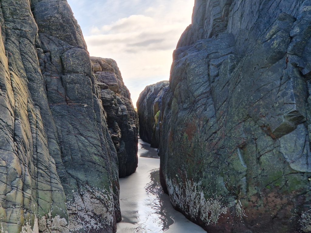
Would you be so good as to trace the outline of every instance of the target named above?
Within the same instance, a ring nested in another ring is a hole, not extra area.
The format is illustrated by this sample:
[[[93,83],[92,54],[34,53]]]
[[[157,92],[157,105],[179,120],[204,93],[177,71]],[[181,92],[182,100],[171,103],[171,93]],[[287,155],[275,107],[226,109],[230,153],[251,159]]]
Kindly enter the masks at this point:
[[[151,147],[158,148],[160,142],[160,109],[162,96],[168,81],[147,86],[139,95],[137,112],[139,117],[139,135]]]

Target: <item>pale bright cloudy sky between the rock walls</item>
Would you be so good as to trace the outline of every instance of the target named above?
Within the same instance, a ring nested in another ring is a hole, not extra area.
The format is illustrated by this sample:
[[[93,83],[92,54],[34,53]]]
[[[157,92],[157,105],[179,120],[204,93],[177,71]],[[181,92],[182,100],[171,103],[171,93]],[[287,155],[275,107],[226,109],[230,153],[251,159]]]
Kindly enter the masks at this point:
[[[116,60],[134,106],[150,84],[169,80],[172,54],[194,0],[67,0],[91,56]]]

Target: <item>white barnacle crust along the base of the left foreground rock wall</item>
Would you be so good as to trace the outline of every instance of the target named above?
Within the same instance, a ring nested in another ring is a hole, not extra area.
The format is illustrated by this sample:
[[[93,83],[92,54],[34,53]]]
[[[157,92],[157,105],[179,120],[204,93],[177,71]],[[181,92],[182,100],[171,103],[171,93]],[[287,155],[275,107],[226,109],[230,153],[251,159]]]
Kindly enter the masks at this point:
[[[35,219],[31,230],[30,224],[23,226],[21,233],[72,233],[94,232],[113,226],[114,199],[112,188],[101,190],[86,185],[83,191],[73,191],[73,199],[67,199],[67,219],[59,215],[52,217],[52,210],[45,216]],[[1,228],[1,233],[9,233]]]

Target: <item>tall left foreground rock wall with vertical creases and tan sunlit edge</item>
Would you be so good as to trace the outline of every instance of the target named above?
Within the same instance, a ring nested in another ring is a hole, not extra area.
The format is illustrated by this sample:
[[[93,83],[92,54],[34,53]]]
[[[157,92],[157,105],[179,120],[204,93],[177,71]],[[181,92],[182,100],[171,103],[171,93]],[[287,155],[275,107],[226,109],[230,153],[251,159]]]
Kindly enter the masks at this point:
[[[2,0],[0,25],[0,231],[115,232],[117,152],[67,1]]]

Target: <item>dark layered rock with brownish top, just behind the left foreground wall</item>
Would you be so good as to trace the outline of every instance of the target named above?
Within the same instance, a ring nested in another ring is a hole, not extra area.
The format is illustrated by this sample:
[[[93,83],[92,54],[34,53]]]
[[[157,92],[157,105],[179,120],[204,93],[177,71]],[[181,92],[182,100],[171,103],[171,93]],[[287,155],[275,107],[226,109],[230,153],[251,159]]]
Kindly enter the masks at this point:
[[[91,57],[91,61],[106,113],[109,134],[118,153],[119,177],[129,176],[136,171],[138,163],[137,112],[117,63],[112,59],[100,57]]]

